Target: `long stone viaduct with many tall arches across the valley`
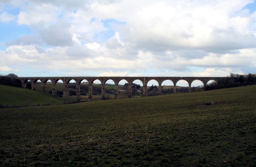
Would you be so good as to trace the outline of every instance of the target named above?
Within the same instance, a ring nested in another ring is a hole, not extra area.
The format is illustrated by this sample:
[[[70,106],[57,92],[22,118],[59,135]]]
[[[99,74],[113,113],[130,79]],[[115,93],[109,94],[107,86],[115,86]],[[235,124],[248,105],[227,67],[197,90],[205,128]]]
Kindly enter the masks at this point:
[[[89,99],[92,99],[92,83],[95,80],[100,80],[101,82],[101,96],[104,97],[106,95],[105,84],[108,80],[113,80],[115,83],[115,98],[118,96],[118,83],[121,80],[126,80],[128,82],[128,98],[132,97],[132,82],[135,80],[140,80],[143,83],[143,97],[147,95],[147,84],[150,80],[156,80],[158,83],[159,95],[161,95],[161,85],[165,80],[171,80],[174,84],[174,93],[176,93],[176,83],[180,80],[185,80],[188,82],[189,92],[191,92],[191,83],[195,80],[199,80],[204,84],[204,88],[208,81],[215,80],[224,77],[182,77],[182,76],[79,76],[79,77],[17,77],[16,80],[19,80],[22,84],[23,88],[26,88],[28,80],[31,81],[31,89],[36,90],[36,82],[38,80],[42,83],[41,91],[45,92],[46,90],[46,82],[52,82],[52,95],[56,96],[57,89],[56,84],[59,80],[62,80],[64,83],[63,97],[68,98],[68,83],[71,80],[76,81],[76,97],[80,99],[80,83],[83,80],[87,80],[89,84]]]

